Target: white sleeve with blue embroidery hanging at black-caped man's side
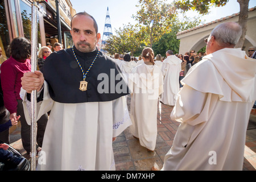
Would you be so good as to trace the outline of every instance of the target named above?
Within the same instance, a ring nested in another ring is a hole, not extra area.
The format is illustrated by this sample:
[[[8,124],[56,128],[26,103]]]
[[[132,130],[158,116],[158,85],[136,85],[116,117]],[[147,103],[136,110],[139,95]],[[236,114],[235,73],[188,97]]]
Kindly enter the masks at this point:
[[[125,96],[113,101],[113,137],[117,137],[131,125]]]

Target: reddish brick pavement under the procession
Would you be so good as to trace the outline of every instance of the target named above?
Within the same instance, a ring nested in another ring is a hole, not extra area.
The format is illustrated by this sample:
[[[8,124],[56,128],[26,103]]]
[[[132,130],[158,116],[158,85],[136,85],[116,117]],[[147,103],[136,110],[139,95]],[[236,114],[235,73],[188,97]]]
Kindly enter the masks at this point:
[[[127,97],[127,106],[130,109],[130,97]],[[154,152],[148,152],[139,144],[129,132],[123,131],[113,142],[115,168],[117,171],[148,171],[152,166],[162,168],[166,153],[170,150],[174,136],[179,126],[178,122],[171,121],[172,106],[158,104],[158,136]],[[18,148],[26,158],[20,139],[20,126],[10,134],[11,146]],[[256,112],[251,111],[245,144],[244,171],[256,170]]]

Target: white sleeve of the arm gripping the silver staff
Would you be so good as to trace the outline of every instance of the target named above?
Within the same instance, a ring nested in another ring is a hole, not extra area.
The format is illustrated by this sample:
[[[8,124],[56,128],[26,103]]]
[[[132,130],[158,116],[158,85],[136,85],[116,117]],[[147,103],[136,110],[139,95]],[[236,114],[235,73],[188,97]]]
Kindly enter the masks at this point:
[[[44,93],[43,93],[43,101],[40,101],[36,104],[36,121],[42,117],[42,115],[46,114],[48,111],[52,109],[53,100],[49,96],[48,92],[48,84],[44,81]],[[23,88],[20,89],[20,98],[23,100],[23,110],[24,115],[28,125],[31,125],[31,102],[27,100],[27,92]]]

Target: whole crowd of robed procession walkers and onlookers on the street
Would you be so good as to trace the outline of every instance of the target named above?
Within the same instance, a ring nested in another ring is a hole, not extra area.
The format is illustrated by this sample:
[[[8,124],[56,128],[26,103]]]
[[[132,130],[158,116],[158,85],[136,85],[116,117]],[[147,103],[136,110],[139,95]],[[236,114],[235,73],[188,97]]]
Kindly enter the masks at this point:
[[[28,153],[28,107],[30,93],[37,90],[37,151],[47,156],[39,170],[114,170],[112,142],[125,129],[154,151],[159,101],[173,106],[171,119],[180,122],[162,170],[242,169],[247,122],[256,100],[256,60],[254,47],[248,56],[234,48],[241,36],[237,23],[216,26],[205,39],[206,53],[167,50],[163,57],[146,47],[138,60],[129,53],[115,53],[112,59],[98,51],[100,34],[91,15],[78,13],[71,24],[74,46],[40,48],[37,71],[31,72],[26,38],[11,42],[11,57],[1,65],[1,123],[8,121],[10,127],[20,121]],[[209,163],[210,151],[217,154],[215,165]]]

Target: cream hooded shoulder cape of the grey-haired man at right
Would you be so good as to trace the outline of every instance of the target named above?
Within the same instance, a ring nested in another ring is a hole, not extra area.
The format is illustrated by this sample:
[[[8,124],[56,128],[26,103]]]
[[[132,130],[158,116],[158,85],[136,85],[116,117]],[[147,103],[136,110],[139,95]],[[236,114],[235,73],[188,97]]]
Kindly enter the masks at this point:
[[[204,93],[220,95],[222,101],[256,100],[256,59],[240,48],[213,52],[189,69],[181,84]]]

